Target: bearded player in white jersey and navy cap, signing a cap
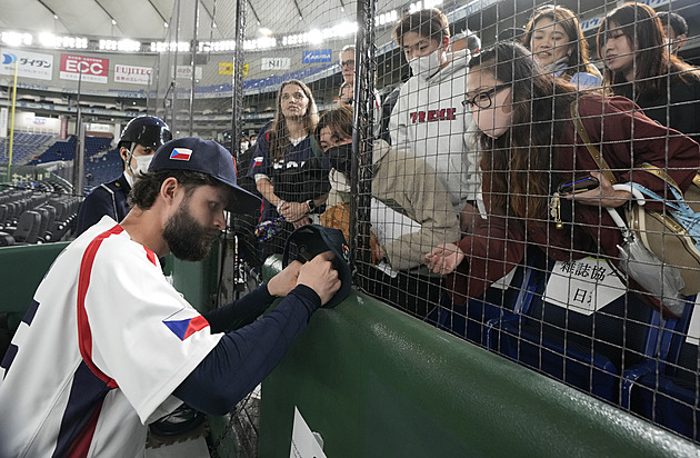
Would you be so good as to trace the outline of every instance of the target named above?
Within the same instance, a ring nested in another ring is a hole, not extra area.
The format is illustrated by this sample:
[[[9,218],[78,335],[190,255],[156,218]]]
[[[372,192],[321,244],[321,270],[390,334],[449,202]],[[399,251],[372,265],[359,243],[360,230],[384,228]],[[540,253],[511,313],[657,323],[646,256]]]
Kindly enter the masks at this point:
[[[167,281],[160,257],[202,259],[224,210],[260,205],[214,141],[160,147],[130,199],[121,222],[102,217],[39,285],[0,364],[0,456],[143,456],[146,425],[182,402],[231,411],[340,289],[332,251],[203,315]]]

